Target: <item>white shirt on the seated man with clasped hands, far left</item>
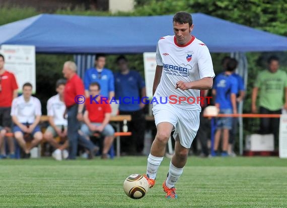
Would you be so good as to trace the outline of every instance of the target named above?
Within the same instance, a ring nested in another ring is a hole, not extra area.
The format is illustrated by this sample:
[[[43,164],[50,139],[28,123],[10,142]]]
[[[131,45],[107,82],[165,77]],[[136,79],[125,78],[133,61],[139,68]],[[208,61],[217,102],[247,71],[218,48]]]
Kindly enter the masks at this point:
[[[24,96],[16,97],[12,101],[11,116],[16,116],[20,123],[34,123],[36,116],[41,116],[41,102],[37,97],[30,97],[28,102]]]

